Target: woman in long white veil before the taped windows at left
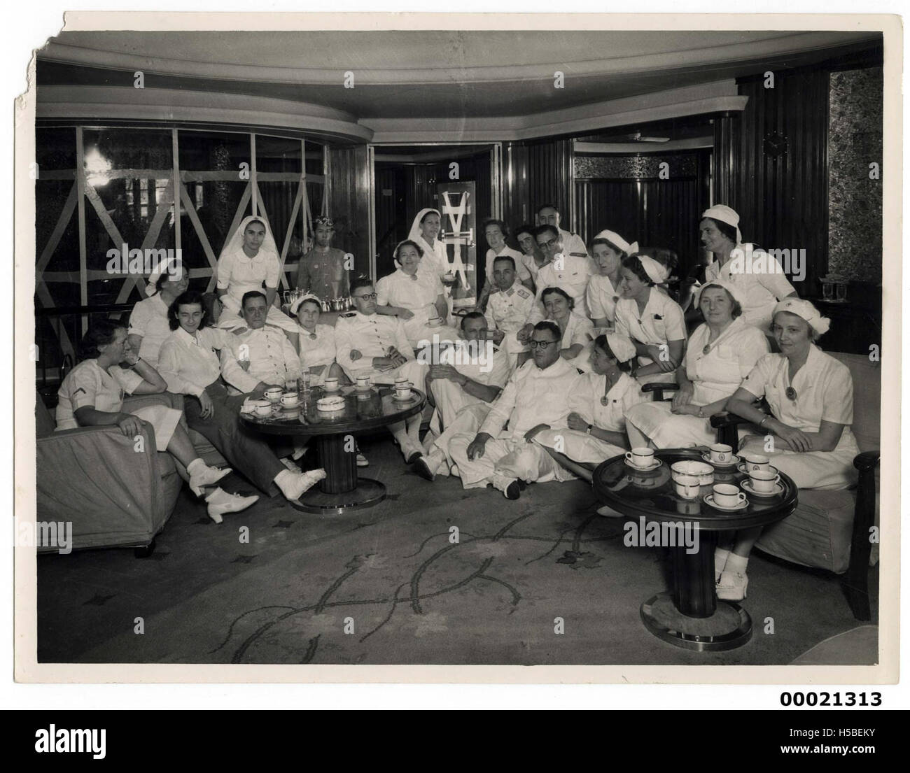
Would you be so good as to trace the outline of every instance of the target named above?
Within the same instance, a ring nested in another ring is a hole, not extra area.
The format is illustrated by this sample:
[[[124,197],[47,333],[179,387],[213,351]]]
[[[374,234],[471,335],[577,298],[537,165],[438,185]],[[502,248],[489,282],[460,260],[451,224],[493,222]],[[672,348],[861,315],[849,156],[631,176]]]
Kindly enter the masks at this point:
[[[218,327],[245,326],[240,316],[240,301],[244,293],[258,290],[265,293],[268,305],[268,325],[280,327],[292,343],[296,343],[299,328],[289,316],[273,306],[278,294],[280,260],[275,237],[264,217],[244,217],[237,231],[227,240],[217,265],[217,294],[224,306]],[[265,284],[265,287],[263,287]]]

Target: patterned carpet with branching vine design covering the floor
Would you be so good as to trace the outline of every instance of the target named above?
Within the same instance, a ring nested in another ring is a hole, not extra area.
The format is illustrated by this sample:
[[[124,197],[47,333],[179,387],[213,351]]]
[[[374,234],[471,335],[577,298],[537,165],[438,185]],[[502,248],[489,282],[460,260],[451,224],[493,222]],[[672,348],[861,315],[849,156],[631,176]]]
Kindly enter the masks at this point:
[[[639,617],[668,587],[668,557],[624,547],[622,521],[597,516],[581,481],[512,502],[453,478],[427,483],[384,438],[362,447],[389,487],[378,507],[318,517],[275,498],[216,526],[182,494],[151,558],[39,558],[39,660],[786,664],[857,625],[834,577],[756,555],[743,605],[752,641],[672,647]]]

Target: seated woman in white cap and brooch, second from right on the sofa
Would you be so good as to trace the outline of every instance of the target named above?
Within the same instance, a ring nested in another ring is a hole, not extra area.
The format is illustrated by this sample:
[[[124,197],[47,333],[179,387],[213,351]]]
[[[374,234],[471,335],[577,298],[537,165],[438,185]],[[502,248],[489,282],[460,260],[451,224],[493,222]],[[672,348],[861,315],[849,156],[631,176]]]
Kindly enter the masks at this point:
[[[711,417],[726,406],[755,363],[768,353],[757,327],[743,322],[735,286],[715,279],[695,299],[704,324],[686,347],[684,366],[676,369],[679,390],[672,402],[642,403],[626,417],[633,448],[710,446],[716,436]]]

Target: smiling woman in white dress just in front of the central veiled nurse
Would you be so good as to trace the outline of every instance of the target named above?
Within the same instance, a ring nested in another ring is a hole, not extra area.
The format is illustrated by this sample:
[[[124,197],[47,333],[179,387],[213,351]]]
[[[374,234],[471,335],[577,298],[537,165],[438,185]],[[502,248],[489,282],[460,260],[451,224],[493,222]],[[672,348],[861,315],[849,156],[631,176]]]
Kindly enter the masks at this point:
[[[399,268],[376,283],[378,314],[398,316],[405,335],[415,348],[440,341],[458,340],[458,333],[445,324],[449,308],[440,277],[435,269],[423,265],[424,252],[415,242],[405,239],[395,247]]]

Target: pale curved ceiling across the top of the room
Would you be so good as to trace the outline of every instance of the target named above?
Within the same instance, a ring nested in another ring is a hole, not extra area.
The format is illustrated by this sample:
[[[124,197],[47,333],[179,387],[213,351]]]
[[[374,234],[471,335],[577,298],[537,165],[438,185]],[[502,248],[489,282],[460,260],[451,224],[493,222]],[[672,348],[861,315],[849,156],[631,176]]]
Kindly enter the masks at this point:
[[[881,39],[806,31],[64,32],[38,52],[37,80],[40,103],[41,86],[132,90],[142,70],[147,88],[324,105],[377,130],[417,121],[426,132],[453,118],[533,124],[541,113],[809,65]],[[344,86],[348,72],[353,88]]]

